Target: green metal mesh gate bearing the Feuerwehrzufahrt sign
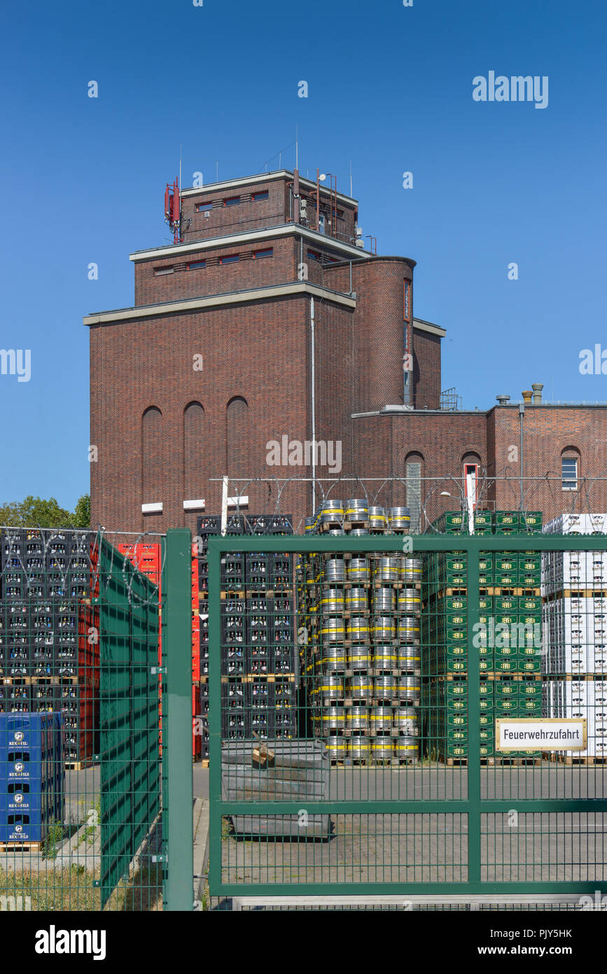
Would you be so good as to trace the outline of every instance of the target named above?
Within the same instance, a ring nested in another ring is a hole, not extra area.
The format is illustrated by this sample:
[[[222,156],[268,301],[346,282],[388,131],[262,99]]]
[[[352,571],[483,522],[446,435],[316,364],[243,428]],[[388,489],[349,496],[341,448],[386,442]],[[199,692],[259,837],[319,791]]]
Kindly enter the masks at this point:
[[[540,561],[601,561],[605,540],[209,539],[211,895],[566,909],[602,890],[607,568],[605,590],[556,574],[542,598]],[[292,553],[295,581],[232,590],[228,551]],[[554,750],[582,710],[586,750]],[[500,726],[549,717],[536,749],[501,749]]]

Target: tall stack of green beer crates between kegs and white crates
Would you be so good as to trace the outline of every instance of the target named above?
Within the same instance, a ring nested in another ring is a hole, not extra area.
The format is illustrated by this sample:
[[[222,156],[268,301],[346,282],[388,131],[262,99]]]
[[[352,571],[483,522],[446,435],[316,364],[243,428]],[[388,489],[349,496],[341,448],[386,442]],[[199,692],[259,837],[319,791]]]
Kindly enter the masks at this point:
[[[475,512],[476,535],[535,535],[539,511]],[[467,515],[446,511],[430,531],[453,535],[453,550],[424,555],[422,685],[426,751],[453,765],[468,759],[468,653],[479,654],[480,735],[484,763],[538,762],[540,752],[495,751],[495,720],[541,714],[541,556],[481,551],[480,629],[468,642],[468,565],[457,535]]]

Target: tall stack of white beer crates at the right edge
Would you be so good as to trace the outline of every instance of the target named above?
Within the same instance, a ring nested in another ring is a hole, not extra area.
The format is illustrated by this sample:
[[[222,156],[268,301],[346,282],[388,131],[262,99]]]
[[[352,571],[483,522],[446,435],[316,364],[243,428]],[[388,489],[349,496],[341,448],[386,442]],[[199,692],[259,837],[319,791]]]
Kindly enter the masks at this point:
[[[604,536],[607,514],[561,514],[544,530]],[[602,763],[607,760],[607,554],[544,552],[542,593],[545,713],[587,722],[585,750],[551,752],[550,757],[569,765]]]

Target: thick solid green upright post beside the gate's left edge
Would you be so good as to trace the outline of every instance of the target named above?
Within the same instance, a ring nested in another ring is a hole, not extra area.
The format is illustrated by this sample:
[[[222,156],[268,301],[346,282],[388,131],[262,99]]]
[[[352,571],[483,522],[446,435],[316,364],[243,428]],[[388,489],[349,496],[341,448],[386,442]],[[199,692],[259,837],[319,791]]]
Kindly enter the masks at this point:
[[[192,775],[192,535],[166,532],[162,571],[162,767],[164,897],[167,910],[194,910]]]

